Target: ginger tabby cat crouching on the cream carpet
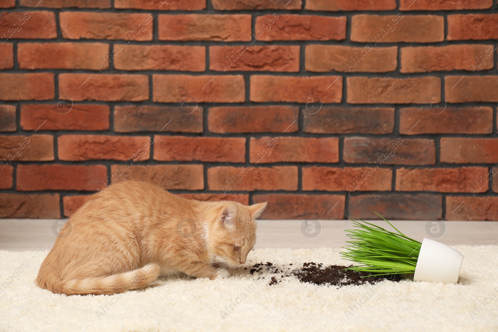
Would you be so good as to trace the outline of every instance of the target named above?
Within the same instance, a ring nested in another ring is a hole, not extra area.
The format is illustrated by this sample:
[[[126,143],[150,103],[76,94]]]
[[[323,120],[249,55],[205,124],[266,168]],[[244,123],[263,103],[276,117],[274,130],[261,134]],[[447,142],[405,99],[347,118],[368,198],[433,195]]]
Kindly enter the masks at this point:
[[[89,197],[64,225],[36,283],[53,293],[115,294],[159,275],[230,275],[246,262],[266,203],[201,202],[124,181]]]

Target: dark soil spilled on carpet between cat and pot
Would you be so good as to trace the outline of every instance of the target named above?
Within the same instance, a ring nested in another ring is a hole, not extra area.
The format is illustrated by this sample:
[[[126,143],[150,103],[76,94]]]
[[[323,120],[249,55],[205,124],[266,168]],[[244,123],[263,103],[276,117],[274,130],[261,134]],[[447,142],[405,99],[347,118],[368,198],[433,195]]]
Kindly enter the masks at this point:
[[[292,264],[289,264],[292,265]],[[314,262],[304,263],[300,268],[291,267],[277,267],[271,262],[254,264],[250,268],[249,273],[262,274],[263,272],[268,272],[271,274],[277,274],[278,276],[273,276],[270,278],[269,285],[276,285],[282,282],[285,277],[294,277],[299,279],[301,282],[307,282],[315,285],[334,285],[334,286],[347,286],[347,285],[363,285],[363,284],[376,284],[379,281],[389,280],[389,281],[399,281],[399,275],[383,275],[383,276],[372,276],[368,272],[360,272],[354,270],[344,270],[350,266],[340,266],[340,265],[329,265],[323,266],[323,264],[317,264]],[[284,271],[284,269],[286,271]]]

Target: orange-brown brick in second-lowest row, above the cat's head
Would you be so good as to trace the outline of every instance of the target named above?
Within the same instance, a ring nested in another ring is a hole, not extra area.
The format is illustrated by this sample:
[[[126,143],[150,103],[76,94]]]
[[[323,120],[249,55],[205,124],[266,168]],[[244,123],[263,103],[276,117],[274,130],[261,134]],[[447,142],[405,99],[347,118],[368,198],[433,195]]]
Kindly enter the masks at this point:
[[[208,168],[208,189],[230,191],[297,190],[297,166]]]

